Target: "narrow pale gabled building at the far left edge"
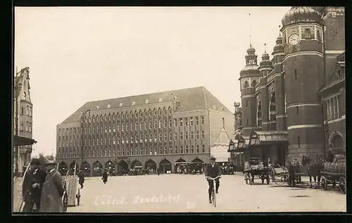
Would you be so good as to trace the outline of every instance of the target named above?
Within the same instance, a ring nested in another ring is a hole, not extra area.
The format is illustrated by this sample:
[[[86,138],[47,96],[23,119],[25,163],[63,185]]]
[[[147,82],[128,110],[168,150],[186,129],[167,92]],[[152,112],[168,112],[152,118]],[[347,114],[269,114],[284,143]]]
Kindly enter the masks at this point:
[[[30,100],[30,68],[23,68],[20,72],[16,71],[14,79],[15,95],[13,106],[13,135],[15,144],[25,145],[18,146],[18,153],[14,149],[14,168],[17,162],[18,171],[22,172],[23,167],[30,163],[32,154],[32,115],[33,105]],[[29,143],[27,143],[29,141]],[[17,157],[16,157],[17,156]]]

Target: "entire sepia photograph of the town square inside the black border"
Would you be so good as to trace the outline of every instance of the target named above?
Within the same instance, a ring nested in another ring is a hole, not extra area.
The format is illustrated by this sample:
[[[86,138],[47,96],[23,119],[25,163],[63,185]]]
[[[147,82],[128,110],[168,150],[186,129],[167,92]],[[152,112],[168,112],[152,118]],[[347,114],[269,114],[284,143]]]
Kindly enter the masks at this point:
[[[346,212],[344,7],[13,13],[13,214]]]

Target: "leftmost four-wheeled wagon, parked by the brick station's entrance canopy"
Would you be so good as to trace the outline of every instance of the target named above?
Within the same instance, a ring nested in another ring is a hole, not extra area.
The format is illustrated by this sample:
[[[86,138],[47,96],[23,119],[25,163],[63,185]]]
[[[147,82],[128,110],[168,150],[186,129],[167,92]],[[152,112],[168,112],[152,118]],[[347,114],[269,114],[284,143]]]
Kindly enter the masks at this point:
[[[264,181],[266,180],[266,184],[270,184],[270,168],[264,167],[262,162],[251,160],[244,163],[243,172],[246,184],[252,185],[254,183],[254,179],[261,179],[262,184],[264,184]]]

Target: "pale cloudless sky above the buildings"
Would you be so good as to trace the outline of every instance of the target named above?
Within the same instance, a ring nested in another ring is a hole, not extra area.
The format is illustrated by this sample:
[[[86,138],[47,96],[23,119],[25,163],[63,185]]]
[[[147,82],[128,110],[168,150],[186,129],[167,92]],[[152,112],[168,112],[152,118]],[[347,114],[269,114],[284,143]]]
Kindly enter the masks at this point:
[[[271,55],[287,11],[15,8],[15,66],[30,68],[32,156],[55,153],[56,125],[88,101],[204,86],[233,111],[249,35],[259,63],[265,48]]]

